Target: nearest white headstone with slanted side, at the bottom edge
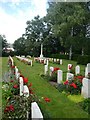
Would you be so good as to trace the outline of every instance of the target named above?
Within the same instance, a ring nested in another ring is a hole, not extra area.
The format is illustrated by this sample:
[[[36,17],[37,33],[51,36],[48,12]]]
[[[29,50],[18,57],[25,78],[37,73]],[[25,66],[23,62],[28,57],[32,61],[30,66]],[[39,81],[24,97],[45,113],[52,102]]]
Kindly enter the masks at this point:
[[[31,119],[34,120],[34,118],[36,118],[37,120],[43,120],[43,115],[36,102],[31,103]]]

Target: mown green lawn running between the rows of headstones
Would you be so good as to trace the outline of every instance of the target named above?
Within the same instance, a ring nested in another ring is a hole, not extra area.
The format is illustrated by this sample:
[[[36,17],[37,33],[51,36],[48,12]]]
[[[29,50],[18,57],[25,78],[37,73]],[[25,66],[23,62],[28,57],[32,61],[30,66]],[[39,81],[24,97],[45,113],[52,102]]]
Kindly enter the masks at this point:
[[[31,67],[30,65],[25,65],[24,63],[18,61],[16,58],[14,58],[14,61],[16,66],[19,68],[19,71],[28,78],[29,83],[32,83],[32,88],[34,89],[35,94],[40,99],[42,99],[42,97],[50,98],[51,101],[49,103],[40,104],[43,112],[48,113],[50,118],[88,118],[88,114],[77,104],[83,100],[80,95],[67,96],[64,93],[60,93],[56,88],[51,86],[49,82],[40,76],[44,73],[44,65],[34,63]],[[52,63],[50,63],[49,66],[60,67],[60,69],[65,72],[67,70],[68,63],[76,65],[76,62],[74,61],[70,62],[64,60],[64,64],[62,66]],[[2,66],[2,71],[4,73],[7,66],[7,58],[3,58]],[[81,70],[82,74],[84,74],[84,66],[81,66]]]

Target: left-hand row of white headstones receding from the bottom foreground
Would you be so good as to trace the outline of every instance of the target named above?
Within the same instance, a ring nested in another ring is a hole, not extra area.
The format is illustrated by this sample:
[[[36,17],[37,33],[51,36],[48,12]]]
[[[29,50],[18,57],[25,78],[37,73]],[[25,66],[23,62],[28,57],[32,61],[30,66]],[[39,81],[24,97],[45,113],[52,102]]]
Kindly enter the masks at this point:
[[[12,57],[10,57],[9,59],[11,59],[11,61],[13,61]],[[20,77],[19,70],[16,66],[15,66],[15,76],[16,76],[16,80],[19,79],[20,96],[29,97],[28,86],[24,85],[23,78]],[[29,112],[27,111],[27,119],[29,118],[28,113]],[[34,118],[37,118],[37,120],[43,119],[42,112],[36,102],[31,103],[31,119],[34,119]]]

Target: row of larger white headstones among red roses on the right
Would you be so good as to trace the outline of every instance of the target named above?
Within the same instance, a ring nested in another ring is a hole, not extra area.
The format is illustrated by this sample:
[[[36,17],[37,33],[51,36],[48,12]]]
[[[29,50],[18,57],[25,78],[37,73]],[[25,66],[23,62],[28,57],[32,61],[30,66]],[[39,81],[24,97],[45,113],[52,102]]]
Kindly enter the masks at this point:
[[[70,64],[69,64],[70,65]],[[69,67],[68,65],[68,67]],[[54,70],[54,67],[50,67],[50,76],[52,75],[52,72]],[[69,68],[68,68],[69,70]],[[76,75],[80,74],[80,66],[77,65],[76,68]],[[48,72],[48,65],[45,65],[44,68],[44,74],[46,75]],[[87,64],[86,69],[85,69],[85,78],[82,80],[82,88],[81,88],[81,94],[85,98],[90,98],[90,78],[86,78],[88,73],[90,73],[90,63]],[[67,73],[66,80],[72,80],[74,78],[74,74],[72,73]],[[57,70],[57,83],[61,84],[63,80],[63,71],[62,70]]]

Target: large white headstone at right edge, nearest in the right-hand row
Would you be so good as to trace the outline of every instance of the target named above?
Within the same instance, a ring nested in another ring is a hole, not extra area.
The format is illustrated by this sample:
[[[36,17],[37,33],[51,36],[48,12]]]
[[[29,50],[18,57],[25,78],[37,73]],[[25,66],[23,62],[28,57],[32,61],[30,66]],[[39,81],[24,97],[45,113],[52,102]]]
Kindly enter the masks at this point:
[[[81,94],[84,98],[90,98],[90,79],[83,78],[82,80]]]

